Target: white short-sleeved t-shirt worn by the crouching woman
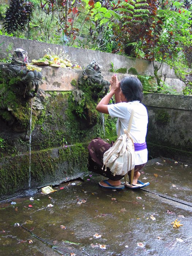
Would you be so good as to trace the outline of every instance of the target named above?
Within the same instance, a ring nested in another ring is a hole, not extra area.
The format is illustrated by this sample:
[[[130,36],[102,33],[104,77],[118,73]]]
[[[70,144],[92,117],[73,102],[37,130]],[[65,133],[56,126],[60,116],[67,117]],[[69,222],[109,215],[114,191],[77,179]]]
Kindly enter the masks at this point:
[[[120,102],[117,104],[108,105],[110,116],[118,117],[117,134],[119,120],[121,121],[120,135],[124,134],[123,129],[128,128],[131,111],[134,109],[134,116],[131,125],[130,134],[134,143],[144,143],[147,133],[148,115],[146,107],[139,101]],[[147,148],[140,151],[135,151],[135,165],[142,165],[147,162]]]

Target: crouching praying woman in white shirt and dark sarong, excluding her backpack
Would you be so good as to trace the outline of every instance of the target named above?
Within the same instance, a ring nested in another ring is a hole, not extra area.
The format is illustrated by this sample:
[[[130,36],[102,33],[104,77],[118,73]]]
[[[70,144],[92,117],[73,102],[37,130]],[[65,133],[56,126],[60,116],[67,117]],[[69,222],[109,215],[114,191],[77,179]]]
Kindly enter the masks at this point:
[[[149,182],[143,183],[138,181],[140,176],[140,170],[145,166],[147,162],[147,146],[145,142],[147,133],[148,115],[147,109],[141,103],[143,99],[142,83],[138,78],[126,76],[120,82],[118,82],[117,76],[113,75],[110,80],[111,90],[101,101],[98,103],[96,109],[105,114],[109,114],[112,118],[118,117],[117,120],[117,133],[120,125],[120,135],[124,134],[123,129],[128,128],[129,118],[131,111],[134,109],[134,116],[131,125],[130,134],[135,145],[135,172],[133,176],[132,186],[125,184],[126,187],[131,189],[142,188],[149,185]],[[110,99],[115,95],[115,104],[110,104]],[[121,179],[124,176],[116,175],[110,172],[107,168],[106,172],[103,172],[103,154],[111,147],[110,144],[104,142],[100,138],[95,138],[88,146],[89,150],[89,164],[88,169],[95,173],[99,173],[108,177],[108,180],[99,182],[101,187],[109,189],[123,189],[125,186],[121,184]],[[128,172],[129,180],[131,178],[131,172]]]

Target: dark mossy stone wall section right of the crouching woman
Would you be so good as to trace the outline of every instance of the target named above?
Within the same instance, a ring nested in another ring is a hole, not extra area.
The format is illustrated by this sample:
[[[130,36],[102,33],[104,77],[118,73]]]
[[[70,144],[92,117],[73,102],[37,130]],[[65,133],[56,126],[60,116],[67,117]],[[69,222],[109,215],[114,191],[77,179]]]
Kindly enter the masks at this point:
[[[192,163],[192,97],[145,93],[148,159],[168,157]]]

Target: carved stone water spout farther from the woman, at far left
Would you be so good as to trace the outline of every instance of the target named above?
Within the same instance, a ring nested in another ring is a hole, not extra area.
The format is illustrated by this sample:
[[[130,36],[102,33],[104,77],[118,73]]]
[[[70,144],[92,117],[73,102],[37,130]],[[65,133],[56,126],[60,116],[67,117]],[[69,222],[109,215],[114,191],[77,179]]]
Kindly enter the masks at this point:
[[[15,78],[15,93],[23,95],[23,98],[34,97],[37,93],[42,79],[40,70],[41,68],[28,65],[27,52],[20,48],[14,50],[11,64],[0,64],[5,80]]]

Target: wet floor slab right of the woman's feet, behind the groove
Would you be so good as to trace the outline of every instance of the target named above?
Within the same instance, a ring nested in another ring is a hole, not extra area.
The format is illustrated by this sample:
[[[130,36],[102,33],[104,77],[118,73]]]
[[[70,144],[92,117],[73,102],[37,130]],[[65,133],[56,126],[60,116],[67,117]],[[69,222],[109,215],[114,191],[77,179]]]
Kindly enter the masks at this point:
[[[192,166],[172,159],[155,158],[148,161],[140,180],[150,182],[147,191],[186,201],[192,206]]]

